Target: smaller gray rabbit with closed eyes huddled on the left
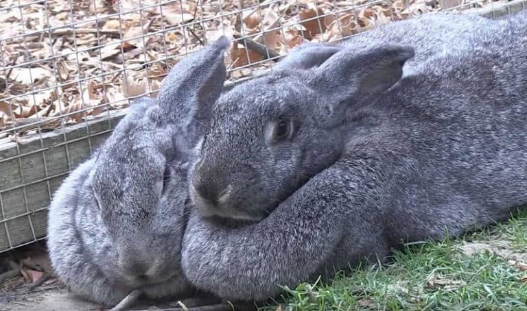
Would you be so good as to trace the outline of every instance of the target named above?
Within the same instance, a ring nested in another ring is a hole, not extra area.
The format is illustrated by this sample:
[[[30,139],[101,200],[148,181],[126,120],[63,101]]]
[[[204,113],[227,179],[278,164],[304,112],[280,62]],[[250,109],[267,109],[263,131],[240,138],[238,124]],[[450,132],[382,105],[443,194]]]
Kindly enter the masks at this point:
[[[113,306],[135,289],[150,299],[193,290],[180,268],[187,166],[205,129],[197,120],[210,112],[200,107],[222,90],[229,44],[222,37],[176,64],[159,97],[134,101],[54,194],[49,256],[73,293]]]

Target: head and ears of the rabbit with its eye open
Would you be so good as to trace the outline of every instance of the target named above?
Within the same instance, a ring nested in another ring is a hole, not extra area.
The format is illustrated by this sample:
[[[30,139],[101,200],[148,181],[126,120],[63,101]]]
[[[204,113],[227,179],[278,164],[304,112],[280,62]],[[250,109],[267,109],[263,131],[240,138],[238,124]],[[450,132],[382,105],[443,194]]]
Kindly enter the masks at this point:
[[[393,86],[413,55],[405,45],[312,44],[222,95],[189,183],[202,216],[263,219],[338,160],[353,123],[347,112]]]

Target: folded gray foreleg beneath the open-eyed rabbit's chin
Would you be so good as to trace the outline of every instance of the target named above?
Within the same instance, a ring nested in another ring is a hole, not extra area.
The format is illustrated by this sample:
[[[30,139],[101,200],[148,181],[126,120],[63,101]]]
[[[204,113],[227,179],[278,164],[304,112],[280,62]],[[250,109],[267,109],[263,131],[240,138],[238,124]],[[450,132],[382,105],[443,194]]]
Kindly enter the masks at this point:
[[[183,271],[198,288],[225,299],[264,300],[318,275],[347,248],[349,262],[387,253],[379,231],[375,193],[379,163],[358,158],[337,163],[309,180],[266,219],[253,225],[218,227],[192,212],[183,241]],[[382,185],[377,185],[382,187]],[[345,232],[360,232],[341,245]],[[342,251],[341,251],[342,252]]]

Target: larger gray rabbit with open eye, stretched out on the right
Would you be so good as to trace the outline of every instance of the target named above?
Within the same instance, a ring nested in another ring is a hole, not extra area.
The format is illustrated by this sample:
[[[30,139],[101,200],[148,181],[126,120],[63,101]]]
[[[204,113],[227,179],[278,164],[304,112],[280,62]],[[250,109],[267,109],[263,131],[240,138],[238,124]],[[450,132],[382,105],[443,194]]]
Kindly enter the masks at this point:
[[[306,48],[289,61],[301,70],[222,95],[189,183],[187,278],[266,299],[527,203],[527,12],[495,23],[405,77],[412,45],[323,62]]]

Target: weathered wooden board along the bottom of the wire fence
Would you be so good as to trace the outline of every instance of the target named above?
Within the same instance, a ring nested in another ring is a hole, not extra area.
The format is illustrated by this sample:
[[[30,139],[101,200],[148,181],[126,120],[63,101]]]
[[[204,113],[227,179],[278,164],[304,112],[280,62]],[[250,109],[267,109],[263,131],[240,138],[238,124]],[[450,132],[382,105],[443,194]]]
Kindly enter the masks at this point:
[[[527,0],[513,0],[463,13],[497,18],[525,8]],[[226,88],[233,85],[230,82]],[[0,141],[0,253],[45,238],[51,195],[67,174],[104,142],[125,114],[126,110],[112,112],[79,125],[28,136],[19,144]]]

